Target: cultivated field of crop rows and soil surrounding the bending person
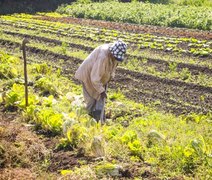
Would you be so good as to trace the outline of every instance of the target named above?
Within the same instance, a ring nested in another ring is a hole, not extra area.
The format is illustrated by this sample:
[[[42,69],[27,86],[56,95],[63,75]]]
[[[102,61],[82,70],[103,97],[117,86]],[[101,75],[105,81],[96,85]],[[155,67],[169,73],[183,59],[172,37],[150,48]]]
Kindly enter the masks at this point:
[[[76,12],[89,12],[83,8]],[[210,179],[208,9],[205,24],[195,26],[202,30],[78,19],[70,6],[57,10],[69,15],[0,16],[2,178]],[[28,108],[23,38],[29,40]],[[101,127],[85,113],[73,74],[96,46],[116,39],[127,42],[127,58],[109,85],[108,123]]]

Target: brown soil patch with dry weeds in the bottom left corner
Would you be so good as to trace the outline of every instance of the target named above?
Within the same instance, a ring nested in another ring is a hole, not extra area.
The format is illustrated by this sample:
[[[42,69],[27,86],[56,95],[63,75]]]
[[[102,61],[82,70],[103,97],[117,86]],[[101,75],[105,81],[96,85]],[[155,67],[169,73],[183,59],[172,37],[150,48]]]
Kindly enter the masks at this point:
[[[79,166],[70,151],[54,152],[60,137],[37,135],[32,125],[21,122],[18,112],[0,106],[0,180],[52,179],[60,170]],[[46,162],[49,161],[49,164]]]

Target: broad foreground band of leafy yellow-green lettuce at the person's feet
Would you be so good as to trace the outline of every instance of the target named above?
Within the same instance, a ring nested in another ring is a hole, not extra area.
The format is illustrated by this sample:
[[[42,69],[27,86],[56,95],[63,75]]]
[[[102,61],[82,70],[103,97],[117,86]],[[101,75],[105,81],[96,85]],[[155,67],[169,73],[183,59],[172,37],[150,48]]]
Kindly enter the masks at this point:
[[[107,167],[142,161],[162,178],[212,175],[211,114],[175,117],[109,92],[109,119],[100,126],[86,114],[81,88],[45,63],[28,66],[26,108],[22,66],[19,58],[0,53],[1,104],[8,111],[22,112],[24,120],[37,128],[60,135],[58,147],[83,148],[85,155],[106,157],[105,164],[93,169],[98,176],[110,174]]]

